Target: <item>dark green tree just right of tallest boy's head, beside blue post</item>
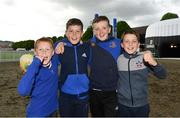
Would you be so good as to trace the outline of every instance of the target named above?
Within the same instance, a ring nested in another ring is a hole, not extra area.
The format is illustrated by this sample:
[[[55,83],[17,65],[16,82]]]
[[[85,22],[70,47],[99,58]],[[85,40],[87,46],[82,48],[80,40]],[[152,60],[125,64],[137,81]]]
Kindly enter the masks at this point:
[[[121,38],[122,33],[130,29],[131,27],[125,21],[118,21],[117,22],[117,38]]]

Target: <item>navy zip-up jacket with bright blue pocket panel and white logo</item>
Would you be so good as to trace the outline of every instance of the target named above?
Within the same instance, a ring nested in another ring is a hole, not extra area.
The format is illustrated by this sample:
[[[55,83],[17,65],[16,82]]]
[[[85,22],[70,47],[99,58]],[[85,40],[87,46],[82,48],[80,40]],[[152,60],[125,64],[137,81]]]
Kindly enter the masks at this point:
[[[65,51],[59,54],[61,63],[59,87],[66,94],[79,95],[89,90],[87,66],[90,60],[90,48],[87,43],[72,45],[63,39]]]

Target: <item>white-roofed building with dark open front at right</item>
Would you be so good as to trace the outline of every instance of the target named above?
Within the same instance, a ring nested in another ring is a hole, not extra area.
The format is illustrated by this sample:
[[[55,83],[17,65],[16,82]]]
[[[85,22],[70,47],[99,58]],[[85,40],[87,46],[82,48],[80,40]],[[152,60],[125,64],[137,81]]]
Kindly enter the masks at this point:
[[[180,57],[180,19],[169,19],[147,27],[146,49],[157,57]]]

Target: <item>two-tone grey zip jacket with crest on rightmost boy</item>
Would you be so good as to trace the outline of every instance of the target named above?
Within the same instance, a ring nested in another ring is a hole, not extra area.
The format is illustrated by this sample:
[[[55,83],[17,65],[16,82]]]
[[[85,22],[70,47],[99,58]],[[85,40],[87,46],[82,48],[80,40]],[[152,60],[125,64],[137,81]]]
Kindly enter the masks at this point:
[[[118,102],[128,107],[148,104],[148,75],[153,73],[159,79],[166,78],[161,65],[150,66],[143,61],[143,54],[129,55],[123,52],[118,57]]]

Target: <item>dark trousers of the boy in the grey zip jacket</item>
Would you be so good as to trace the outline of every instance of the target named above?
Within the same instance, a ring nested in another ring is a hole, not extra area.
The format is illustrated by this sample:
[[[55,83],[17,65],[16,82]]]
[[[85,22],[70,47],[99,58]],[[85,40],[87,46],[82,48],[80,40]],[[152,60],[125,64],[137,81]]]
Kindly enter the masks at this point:
[[[122,104],[118,104],[119,117],[148,117],[149,111],[149,104],[141,107],[127,107]]]

